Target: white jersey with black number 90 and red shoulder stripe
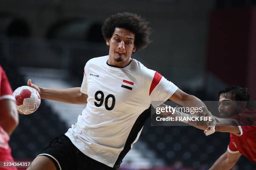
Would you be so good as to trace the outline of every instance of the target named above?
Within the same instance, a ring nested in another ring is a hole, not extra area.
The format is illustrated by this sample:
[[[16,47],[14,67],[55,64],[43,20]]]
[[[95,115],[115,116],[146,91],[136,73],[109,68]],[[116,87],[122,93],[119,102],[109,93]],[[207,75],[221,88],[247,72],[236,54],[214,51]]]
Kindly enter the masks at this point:
[[[87,106],[65,135],[85,155],[110,167],[120,165],[138,140],[151,101],[166,101],[178,89],[158,72],[133,59],[126,67],[89,60],[81,92]]]

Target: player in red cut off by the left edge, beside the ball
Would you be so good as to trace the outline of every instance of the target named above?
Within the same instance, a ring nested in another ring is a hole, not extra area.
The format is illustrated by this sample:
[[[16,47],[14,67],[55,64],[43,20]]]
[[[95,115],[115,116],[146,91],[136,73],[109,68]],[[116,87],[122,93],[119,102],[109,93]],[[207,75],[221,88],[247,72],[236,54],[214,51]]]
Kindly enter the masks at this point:
[[[8,145],[11,133],[18,125],[18,113],[15,98],[5,71],[0,66],[0,161],[13,161]],[[17,170],[17,168],[0,168],[1,170]]]

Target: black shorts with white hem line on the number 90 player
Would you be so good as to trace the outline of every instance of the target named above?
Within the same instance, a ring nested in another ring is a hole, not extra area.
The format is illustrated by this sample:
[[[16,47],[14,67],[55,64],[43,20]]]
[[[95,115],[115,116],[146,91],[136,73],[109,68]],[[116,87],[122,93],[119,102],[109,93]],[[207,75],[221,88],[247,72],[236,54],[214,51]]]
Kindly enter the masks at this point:
[[[54,138],[39,155],[50,158],[57,170],[115,170],[84,155],[66,135]]]

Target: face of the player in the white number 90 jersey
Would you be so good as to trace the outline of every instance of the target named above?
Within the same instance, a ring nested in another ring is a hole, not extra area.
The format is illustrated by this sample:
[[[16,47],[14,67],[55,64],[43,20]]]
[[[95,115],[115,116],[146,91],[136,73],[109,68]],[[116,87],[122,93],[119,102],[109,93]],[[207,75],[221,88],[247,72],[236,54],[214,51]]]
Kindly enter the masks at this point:
[[[134,46],[135,34],[125,28],[115,28],[110,39],[107,39],[109,45],[109,56],[115,62],[130,61],[131,55],[136,51]]]

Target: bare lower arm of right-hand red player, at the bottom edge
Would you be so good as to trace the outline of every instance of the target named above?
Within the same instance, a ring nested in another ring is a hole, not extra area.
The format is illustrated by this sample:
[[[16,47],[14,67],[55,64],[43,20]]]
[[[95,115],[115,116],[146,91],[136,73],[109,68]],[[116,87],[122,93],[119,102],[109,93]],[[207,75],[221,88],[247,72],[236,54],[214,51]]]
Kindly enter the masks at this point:
[[[240,158],[241,153],[229,153],[228,150],[220,156],[209,170],[230,170]]]

